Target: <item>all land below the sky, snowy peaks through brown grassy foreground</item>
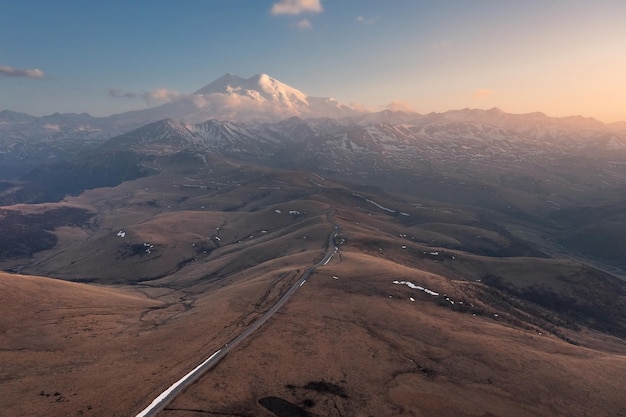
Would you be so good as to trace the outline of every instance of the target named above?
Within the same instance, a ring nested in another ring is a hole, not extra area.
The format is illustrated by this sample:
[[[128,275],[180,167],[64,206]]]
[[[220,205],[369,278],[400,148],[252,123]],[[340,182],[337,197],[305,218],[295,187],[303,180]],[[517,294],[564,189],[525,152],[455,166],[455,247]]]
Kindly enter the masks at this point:
[[[626,415],[624,190],[623,124],[364,113],[267,75],[4,110],[0,406]]]

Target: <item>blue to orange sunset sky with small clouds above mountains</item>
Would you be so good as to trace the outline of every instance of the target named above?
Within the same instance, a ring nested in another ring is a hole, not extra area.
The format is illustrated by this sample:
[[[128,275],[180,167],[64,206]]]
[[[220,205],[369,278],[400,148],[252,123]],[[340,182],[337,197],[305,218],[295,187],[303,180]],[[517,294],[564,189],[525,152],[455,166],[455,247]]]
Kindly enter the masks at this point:
[[[372,111],[626,120],[623,0],[20,0],[0,110],[104,116],[266,73]]]

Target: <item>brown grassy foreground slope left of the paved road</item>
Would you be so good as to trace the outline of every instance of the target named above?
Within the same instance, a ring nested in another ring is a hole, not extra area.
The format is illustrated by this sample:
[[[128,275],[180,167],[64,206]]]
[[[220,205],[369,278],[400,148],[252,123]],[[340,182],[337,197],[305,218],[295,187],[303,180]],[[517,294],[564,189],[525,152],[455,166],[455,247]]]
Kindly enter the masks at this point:
[[[221,288],[205,284],[196,295],[2,274],[2,415],[131,415],[248,326],[294,278],[276,269]]]

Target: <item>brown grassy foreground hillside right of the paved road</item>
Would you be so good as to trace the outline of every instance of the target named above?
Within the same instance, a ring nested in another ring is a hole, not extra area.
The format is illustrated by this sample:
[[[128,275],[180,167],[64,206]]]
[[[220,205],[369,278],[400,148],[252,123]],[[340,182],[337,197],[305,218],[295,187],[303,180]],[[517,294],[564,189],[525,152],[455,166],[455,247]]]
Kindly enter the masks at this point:
[[[321,269],[258,336],[161,415],[274,416],[259,403],[266,397],[311,416],[626,412],[626,349],[594,351],[493,316],[454,312],[392,283],[404,279],[438,291],[455,287],[344,252],[341,263]],[[340,390],[314,389],[320,381]]]

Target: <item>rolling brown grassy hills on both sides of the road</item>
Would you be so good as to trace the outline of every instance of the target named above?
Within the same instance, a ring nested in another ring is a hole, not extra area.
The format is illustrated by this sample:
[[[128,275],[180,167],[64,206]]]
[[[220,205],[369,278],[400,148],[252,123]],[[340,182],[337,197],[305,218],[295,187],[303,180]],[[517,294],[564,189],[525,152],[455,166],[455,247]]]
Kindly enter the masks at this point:
[[[593,283],[619,318],[615,278],[528,255],[522,226],[458,204],[218,162],[11,208],[94,213],[1,264],[92,284],[0,274],[0,414],[138,412],[321,259],[334,206],[340,253],[163,416],[626,415],[623,339],[517,297]]]

